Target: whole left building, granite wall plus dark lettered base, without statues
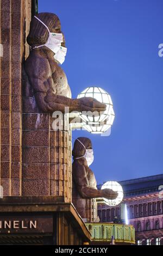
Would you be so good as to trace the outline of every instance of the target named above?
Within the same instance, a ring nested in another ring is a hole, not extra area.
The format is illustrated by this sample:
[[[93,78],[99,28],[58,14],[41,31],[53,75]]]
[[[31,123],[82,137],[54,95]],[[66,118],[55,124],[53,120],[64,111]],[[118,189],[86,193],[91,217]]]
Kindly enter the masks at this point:
[[[24,71],[37,2],[0,1],[0,245],[83,245],[91,234],[72,204],[71,130],[52,129]]]

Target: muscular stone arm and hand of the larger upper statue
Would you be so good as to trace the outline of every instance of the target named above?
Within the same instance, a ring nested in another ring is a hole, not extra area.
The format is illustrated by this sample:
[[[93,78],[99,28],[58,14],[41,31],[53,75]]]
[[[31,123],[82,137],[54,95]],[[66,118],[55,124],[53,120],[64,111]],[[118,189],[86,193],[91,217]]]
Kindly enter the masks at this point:
[[[56,95],[55,81],[52,78],[52,70],[48,59],[36,58],[35,63],[26,60],[25,70],[34,91],[36,103],[43,112],[61,111],[64,113],[65,106],[72,111],[104,111],[105,105],[90,97],[82,99],[70,99]],[[54,70],[55,72],[55,70]]]

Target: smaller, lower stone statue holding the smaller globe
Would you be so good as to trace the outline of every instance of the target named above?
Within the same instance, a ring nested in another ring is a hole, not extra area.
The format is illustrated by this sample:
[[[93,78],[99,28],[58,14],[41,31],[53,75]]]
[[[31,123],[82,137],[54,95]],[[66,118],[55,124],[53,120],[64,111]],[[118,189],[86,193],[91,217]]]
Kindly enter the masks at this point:
[[[97,190],[95,175],[88,166],[88,162],[90,160],[87,159],[87,157],[85,158],[87,149],[92,149],[92,143],[89,138],[79,137],[76,139],[72,151],[74,160],[72,164],[72,177],[80,197],[104,197],[107,199],[115,199],[117,197],[117,192],[112,191],[109,188],[105,188],[104,190]],[[91,158],[91,156],[89,158]]]

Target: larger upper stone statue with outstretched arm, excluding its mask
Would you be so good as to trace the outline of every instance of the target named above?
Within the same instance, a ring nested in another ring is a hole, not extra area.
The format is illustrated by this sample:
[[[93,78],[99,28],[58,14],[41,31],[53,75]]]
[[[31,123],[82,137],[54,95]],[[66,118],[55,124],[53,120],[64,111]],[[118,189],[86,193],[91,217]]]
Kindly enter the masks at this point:
[[[49,32],[62,33],[57,15],[40,13],[36,17],[48,27]],[[70,107],[70,112],[104,111],[105,105],[91,97],[71,99],[71,90],[67,83],[67,77],[58,65],[57,60],[54,59],[54,52],[47,46],[35,48],[35,46],[46,44],[49,36],[47,27],[36,17],[33,17],[30,23],[27,42],[31,46],[31,51],[24,64],[24,70],[28,76],[28,88],[26,88],[28,92],[26,96],[29,96],[29,94],[34,96],[33,100],[35,102],[32,102],[32,104],[36,112],[53,113],[54,111],[61,111],[64,113],[65,106]],[[65,47],[64,34],[61,46]]]

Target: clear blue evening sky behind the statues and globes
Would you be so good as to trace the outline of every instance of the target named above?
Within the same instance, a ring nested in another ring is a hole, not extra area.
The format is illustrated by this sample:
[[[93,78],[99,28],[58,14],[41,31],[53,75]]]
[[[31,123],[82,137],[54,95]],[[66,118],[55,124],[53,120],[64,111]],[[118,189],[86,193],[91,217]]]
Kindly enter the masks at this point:
[[[163,173],[162,0],[39,0],[59,16],[72,97],[100,86],[112,98],[111,135],[73,131],[92,140],[97,183]]]

